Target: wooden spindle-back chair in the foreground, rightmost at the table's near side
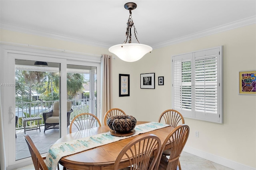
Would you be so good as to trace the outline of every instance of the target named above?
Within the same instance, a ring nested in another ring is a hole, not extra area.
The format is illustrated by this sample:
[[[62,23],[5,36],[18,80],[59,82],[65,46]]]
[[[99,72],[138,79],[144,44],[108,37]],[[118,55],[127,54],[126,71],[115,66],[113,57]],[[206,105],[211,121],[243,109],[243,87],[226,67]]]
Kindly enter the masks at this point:
[[[185,124],[177,126],[168,134],[161,146],[161,152],[156,162],[155,170],[176,170],[177,167],[181,170],[179,158],[188,140],[188,135],[189,127]],[[170,145],[170,158],[162,155],[166,144]]]

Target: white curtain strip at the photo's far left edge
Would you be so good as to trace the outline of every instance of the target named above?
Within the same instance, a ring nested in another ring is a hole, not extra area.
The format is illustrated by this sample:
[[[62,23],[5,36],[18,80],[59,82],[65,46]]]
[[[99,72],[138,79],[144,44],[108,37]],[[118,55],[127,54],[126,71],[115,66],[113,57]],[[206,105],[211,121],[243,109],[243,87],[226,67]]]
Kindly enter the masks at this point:
[[[1,91],[0,91],[1,96]],[[2,104],[0,97],[0,170],[6,169],[6,157],[4,149],[4,127],[3,127],[3,117],[2,117]]]

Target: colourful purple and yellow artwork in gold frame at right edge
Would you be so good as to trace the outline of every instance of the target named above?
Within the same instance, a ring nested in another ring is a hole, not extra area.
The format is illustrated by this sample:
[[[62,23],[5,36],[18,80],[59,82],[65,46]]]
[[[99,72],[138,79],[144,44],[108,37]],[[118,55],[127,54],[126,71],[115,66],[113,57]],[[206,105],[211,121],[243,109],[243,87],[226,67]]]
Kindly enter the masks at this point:
[[[256,71],[239,72],[239,94],[256,94]]]

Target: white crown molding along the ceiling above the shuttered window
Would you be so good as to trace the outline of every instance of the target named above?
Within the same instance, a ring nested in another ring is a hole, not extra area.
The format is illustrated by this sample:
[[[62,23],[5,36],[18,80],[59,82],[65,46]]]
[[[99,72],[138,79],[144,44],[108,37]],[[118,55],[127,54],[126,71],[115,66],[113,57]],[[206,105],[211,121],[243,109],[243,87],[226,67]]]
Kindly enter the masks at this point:
[[[211,29],[208,29],[208,30],[204,30],[204,31],[201,31],[201,32],[190,34],[188,36],[183,36],[183,37],[179,37],[179,38],[176,38],[176,39],[173,39],[173,40],[170,40],[170,41],[157,43],[157,44],[152,45],[152,48],[156,49],[156,48],[166,47],[168,45],[172,45],[172,44],[176,44],[176,43],[180,43],[180,42],[185,42],[185,41],[188,41],[188,40],[193,40],[193,39],[204,37],[204,36],[209,36],[209,35],[216,34],[216,33],[219,33],[219,32],[224,32],[224,31],[227,31],[227,30],[232,30],[232,29],[235,29],[235,28],[239,28],[239,27],[242,27],[242,26],[247,26],[247,25],[251,25],[251,24],[255,24],[255,23],[256,23],[256,16],[252,16],[252,17],[249,17],[249,18],[245,18],[243,20],[238,20],[238,21],[235,21],[235,22],[224,24],[222,26],[218,26],[218,27],[214,27],[214,28],[211,28]]]

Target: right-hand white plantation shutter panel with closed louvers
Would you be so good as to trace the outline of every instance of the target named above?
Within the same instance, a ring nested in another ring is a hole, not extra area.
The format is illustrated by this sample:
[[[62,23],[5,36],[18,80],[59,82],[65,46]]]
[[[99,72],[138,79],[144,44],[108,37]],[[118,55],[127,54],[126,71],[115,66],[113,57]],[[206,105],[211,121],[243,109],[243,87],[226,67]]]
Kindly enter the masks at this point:
[[[219,121],[218,110],[220,71],[220,49],[209,49],[195,52],[195,117],[200,119]]]

